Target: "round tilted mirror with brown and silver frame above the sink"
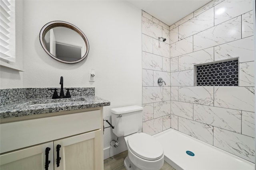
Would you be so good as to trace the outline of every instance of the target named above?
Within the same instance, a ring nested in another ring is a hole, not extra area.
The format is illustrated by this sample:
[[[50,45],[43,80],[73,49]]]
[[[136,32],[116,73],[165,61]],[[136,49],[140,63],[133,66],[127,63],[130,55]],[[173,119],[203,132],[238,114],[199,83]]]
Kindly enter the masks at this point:
[[[44,51],[62,63],[78,63],[89,52],[89,42],[84,33],[65,21],[52,21],[44,25],[39,39]]]

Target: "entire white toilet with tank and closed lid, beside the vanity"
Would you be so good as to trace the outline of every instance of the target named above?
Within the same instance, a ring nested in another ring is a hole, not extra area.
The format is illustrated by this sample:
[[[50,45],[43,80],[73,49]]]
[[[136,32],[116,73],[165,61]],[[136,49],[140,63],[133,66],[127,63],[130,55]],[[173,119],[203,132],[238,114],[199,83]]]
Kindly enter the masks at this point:
[[[111,109],[113,133],[124,137],[127,170],[159,170],[164,164],[164,150],[154,137],[142,133],[142,110],[141,106]]]

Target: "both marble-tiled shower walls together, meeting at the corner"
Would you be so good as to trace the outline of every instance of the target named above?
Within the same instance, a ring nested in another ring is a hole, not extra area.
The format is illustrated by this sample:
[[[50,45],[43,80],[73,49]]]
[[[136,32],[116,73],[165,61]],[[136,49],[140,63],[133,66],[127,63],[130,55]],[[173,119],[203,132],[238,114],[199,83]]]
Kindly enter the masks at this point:
[[[158,42],[166,29],[142,12],[143,131],[173,128],[254,162],[252,1],[212,0]],[[239,61],[239,86],[195,86],[194,65],[231,58]],[[158,76],[166,85],[156,84]]]

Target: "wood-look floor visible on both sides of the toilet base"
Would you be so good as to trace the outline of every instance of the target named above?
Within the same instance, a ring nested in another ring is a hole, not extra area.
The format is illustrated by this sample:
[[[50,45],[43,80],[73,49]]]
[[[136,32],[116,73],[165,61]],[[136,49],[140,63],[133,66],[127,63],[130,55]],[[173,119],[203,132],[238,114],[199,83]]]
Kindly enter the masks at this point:
[[[124,159],[127,156],[128,151],[121,152],[115,156],[104,160],[104,170],[126,170],[124,166]],[[164,166],[160,170],[175,170],[167,162],[164,161]]]

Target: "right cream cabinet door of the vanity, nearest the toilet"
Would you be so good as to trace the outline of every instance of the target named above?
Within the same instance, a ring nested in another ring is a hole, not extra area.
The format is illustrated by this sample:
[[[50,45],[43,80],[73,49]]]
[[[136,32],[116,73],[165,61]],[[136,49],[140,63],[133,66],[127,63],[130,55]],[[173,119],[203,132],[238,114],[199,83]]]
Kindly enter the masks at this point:
[[[101,130],[96,130],[54,141],[54,170],[102,170],[101,140]]]

